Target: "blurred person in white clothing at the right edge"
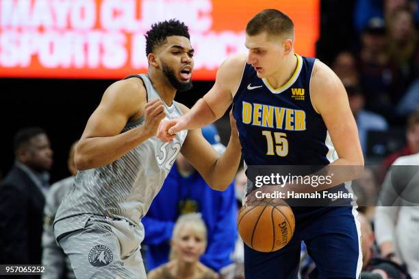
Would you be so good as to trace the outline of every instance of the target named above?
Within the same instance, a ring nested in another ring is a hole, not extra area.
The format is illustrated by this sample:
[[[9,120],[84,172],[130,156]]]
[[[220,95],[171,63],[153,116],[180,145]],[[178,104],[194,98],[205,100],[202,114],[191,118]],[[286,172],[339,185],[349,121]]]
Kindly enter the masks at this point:
[[[419,278],[419,153],[402,156],[385,176],[375,216],[375,237],[381,254],[404,262]]]

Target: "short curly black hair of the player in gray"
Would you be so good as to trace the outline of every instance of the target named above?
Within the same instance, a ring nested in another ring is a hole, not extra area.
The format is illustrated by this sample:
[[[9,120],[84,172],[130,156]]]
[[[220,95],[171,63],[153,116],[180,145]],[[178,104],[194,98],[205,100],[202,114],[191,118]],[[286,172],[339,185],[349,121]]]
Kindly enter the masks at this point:
[[[183,36],[190,39],[188,26],[176,19],[154,23],[144,36],[146,38],[147,56],[149,53],[152,53],[156,47],[166,43],[166,38],[168,36]]]

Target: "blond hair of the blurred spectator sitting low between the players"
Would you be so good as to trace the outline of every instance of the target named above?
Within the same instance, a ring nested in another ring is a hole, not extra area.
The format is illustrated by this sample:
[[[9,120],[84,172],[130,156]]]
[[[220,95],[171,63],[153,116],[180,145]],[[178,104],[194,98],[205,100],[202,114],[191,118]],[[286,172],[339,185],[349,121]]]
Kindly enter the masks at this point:
[[[175,228],[173,228],[172,240],[176,241],[179,238],[181,230],[186,226],[191,228],[194,234],[201,236],[205,244],[207,243],[207,226],[205,226],[200,213],[188,213],[181,215],[175,223]],[[170,249],[170,260],[173,260],[175,257],[175,252],[173,249]]]

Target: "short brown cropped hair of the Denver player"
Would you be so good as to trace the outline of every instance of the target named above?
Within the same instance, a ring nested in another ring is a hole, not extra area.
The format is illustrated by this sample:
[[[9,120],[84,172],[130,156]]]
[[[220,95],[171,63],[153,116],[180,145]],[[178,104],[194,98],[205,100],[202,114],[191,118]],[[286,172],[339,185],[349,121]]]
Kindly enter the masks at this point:
[[[259,12],[247,23],[246,33],[255,36],[262,32],[268,35],[288,35],[294,40],[294,23],[289,16],[275,9]]]

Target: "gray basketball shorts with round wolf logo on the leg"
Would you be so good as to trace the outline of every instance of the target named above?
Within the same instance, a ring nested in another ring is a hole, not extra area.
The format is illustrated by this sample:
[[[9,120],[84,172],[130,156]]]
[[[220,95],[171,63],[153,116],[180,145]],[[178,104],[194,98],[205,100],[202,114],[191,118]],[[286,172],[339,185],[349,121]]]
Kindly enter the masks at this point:
[[[55,226],[70,225],[71,218]],[[140,243],[144,228],[124,219],[90,215],[84,228],[61,234],[58,243],[77,278],[146,279]]]

